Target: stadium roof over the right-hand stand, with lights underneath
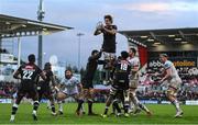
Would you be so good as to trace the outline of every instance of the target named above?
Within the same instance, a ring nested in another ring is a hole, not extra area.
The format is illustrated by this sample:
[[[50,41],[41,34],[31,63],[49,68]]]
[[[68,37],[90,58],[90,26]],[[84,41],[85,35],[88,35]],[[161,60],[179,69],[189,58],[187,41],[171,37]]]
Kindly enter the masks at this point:
[[[154,46],[158,44],[197,44],[198,27],[119,31],[129,42],[142,46]]]

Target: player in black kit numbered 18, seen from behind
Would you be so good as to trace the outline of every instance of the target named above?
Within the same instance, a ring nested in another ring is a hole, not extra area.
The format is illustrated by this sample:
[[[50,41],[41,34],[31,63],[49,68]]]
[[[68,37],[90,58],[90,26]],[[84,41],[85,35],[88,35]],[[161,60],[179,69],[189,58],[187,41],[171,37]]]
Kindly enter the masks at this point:
[[[128,52],[121,52],[121,60],[114,64],[113,83],[110,89],[110,95],[106,101],[106,110],[103,114],[101,114],[102,117],[107,117],[109,106],[114,99],[120,98],[120,94],[123,95],[124,100],[124,116],[129,116],[129,75],[131,71],[131,66],[130,63],[127,60],[128,56]],[[117,109],[117,115],[119,116],[121,114],[121,110],[118,103],[114,103],[114,107]]]

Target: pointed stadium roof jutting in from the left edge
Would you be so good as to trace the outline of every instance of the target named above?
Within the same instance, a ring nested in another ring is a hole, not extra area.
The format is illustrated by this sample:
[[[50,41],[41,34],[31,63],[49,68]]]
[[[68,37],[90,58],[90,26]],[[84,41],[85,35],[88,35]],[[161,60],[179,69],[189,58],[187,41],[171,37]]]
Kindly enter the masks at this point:
[[[0,14],[0,38],[33,36],[73,27]]]

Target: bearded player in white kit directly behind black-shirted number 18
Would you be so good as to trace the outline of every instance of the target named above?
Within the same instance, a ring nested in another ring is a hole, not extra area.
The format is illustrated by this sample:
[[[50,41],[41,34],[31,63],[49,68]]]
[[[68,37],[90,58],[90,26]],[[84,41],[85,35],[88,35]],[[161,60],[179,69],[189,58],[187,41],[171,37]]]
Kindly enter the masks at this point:
[[[138,57],[135,57],[136,55],[136,49],[135,48],[130,48],[129,49],[129,61],[131,64],[131,75],[130,75],[130,106],[132,105],[131,102],[133,102],[134,106],[135,106],[135,111],[134,114],[139,113],[141,111],[141,109],[143,111],[146,112],[147,115],[151,115],[152,113],[150,112],[150,110],[142,104],[139,99],[136,98],[136,88],[139,84],[139,70],[140,70],[140,60]]]

